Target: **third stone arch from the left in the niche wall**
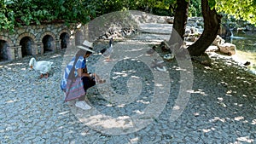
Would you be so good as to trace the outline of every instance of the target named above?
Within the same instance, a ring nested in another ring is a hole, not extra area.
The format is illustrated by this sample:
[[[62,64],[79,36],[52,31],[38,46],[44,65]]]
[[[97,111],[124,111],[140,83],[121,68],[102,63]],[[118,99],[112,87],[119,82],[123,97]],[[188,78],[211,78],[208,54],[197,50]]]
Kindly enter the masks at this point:
[[[42,42],[42,49],[41,49],[41,54],[44,52],[49,52],[49,51],[55,51],[55,34],[53,32],[44,32],[42,36],[40,37],[40,41]]]

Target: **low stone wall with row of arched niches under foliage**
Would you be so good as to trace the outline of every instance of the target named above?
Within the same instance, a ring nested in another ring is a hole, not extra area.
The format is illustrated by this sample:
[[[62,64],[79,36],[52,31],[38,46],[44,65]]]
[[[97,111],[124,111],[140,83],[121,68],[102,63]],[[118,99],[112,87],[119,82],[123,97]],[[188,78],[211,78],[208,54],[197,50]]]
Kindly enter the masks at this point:
[[[43,55],[67,48],[69,38],[84,38],[84,26],[49,24],[40,26],[22,26],[15,32],[0,32],[0,61],[17,60],[26,55]],[[82,36],[80,36],[82,35]],[[81,42],[79,42],[81,43]]]

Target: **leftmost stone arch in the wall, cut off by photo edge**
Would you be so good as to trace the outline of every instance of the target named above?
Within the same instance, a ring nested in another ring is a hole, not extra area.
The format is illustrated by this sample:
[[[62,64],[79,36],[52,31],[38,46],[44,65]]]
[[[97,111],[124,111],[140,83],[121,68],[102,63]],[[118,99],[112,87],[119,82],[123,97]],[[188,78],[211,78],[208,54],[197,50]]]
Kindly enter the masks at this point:
[[[14,43],[9,37],[0,36],[0,61],[11,60],[10,46],[14,46]]]

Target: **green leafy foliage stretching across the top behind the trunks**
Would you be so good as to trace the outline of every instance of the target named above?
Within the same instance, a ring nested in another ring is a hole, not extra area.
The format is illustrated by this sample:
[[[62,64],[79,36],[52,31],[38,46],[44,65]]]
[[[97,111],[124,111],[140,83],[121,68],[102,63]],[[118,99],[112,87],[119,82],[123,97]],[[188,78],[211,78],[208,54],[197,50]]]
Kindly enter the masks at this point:
[[[255,0],[208,0],[218,13],[256,24]],[[187,0],[189,16],[202,16],[201,0]],[[143,10],[173,16],[177,0],[0,0],[0,30],[49,22],[87,23],[102,14],[119,10]]]

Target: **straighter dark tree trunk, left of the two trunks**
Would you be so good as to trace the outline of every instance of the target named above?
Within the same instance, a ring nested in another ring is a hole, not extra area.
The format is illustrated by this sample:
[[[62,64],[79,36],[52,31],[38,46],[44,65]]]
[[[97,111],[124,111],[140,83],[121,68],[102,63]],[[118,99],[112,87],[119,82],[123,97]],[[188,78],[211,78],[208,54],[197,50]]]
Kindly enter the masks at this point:
[[[175,9],[174,21],[172,27],[172,35],[170,37],[170,44],[177,43],[178,39],[185,33],[186,24],[188,20],[189,2],[187,0],[177,0],[177,8]],[[177,36],[179,35],[179,37]]]

